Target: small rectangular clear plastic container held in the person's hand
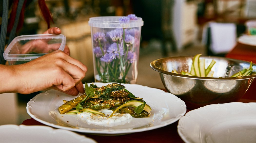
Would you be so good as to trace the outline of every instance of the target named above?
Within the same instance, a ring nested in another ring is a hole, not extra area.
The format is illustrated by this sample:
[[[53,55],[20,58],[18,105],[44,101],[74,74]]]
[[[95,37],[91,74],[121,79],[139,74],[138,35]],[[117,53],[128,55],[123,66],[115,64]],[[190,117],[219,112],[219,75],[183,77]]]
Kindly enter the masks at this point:
[[[15,37],[4,51],[9,65],[23,64],[47,53],[61,50],[66,45],[66,36],[60,34],[36,34]]]

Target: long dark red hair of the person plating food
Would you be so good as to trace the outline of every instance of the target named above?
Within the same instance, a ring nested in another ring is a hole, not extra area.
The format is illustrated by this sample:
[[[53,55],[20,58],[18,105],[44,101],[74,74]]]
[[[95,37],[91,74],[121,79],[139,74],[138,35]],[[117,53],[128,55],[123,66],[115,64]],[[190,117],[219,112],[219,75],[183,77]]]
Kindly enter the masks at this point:
[[[11,11],[10,19],[8,22],[7,32],[11,32],[11,30],[13,28],[15,16],[16,16],[16,12],[17,12],[17,7],[18,7],[18,2],[19,2],[19,0],[13,0],[12,11]],[[19,31],[23,26],[24,10],[25,10],[25,6],[26,6],[26,2],[27,2],[27,0],[25,0],[23,3],[23,7],[22,7],[22,10],[21,10],[20,16],[19,16],[19,24],[17,26],[16,31]],[[54,23],[54,22],[53,22],[51,12],[45,3],[45,0],[38,0],[38,6],[40,8],[40,12],[41,12],[44,20],[47,23],[47,27],[50,28],[50,22],[52,22],[52,23]]]

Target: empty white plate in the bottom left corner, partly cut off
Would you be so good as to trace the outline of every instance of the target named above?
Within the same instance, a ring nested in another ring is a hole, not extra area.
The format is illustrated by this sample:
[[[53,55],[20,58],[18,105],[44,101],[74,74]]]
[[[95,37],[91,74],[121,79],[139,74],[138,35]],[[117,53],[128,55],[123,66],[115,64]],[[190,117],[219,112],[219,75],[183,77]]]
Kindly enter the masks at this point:
[[[91,138],[77,133],[53,129],[48,126],[1,125],[0,142],[8,143],[56,143],[56,142],[87,142],[96,143]]]

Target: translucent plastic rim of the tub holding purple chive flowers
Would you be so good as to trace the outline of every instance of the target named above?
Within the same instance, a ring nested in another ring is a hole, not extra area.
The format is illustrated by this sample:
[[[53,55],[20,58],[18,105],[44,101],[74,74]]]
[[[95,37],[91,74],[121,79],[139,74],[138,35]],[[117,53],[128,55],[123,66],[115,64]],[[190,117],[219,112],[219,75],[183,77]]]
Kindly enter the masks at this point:
[[[137,20],[130,20],[129,23],[120,23],[119,19],[121,17],[122,16],[92,17],[89,19],[89,25],[99,28],[132,28],[143,26],[143,21],[140,17],[138,17]]]

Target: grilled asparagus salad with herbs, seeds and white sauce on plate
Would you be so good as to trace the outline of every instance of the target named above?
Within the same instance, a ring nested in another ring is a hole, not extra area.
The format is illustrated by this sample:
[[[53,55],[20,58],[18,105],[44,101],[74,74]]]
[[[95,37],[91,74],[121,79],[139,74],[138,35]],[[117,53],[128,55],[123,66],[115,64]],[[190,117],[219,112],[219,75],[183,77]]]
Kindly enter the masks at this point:
[[[93,83],[88,86],[86,83],[84,89],[85,94],[70,101],[63,100],[64,104],[59,107],[59,112],[61,114],[78,114],[81,119],[86,117],[87,122],[100,120],[97,121],[99,124],[102,123],[102,120],[117,120],[118,118],[121,122],[132,117],[150,116],[150,106],[142,98],[134,96],[120,83],[102,87]],[[124,115],[125,117],[123,117]],[[109,123],[109,121],[105,122]]]

